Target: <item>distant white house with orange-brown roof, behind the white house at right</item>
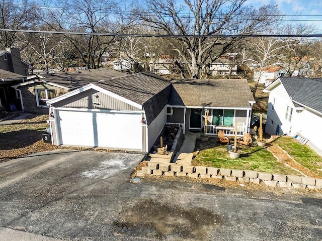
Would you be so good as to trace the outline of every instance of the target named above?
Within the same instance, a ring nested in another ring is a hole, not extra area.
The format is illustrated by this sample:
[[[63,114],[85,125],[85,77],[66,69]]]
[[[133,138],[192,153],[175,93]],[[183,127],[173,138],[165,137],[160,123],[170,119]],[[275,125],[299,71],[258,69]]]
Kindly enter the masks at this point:
[[[259,79],[259,83],[264,84],[265,86],[270,85],[275,79],[279,77],[284,77],[286,71],[284,68],[277,65],[270,65],[264,67],[263,69],[258,69],[254,71],[254,80]]]

